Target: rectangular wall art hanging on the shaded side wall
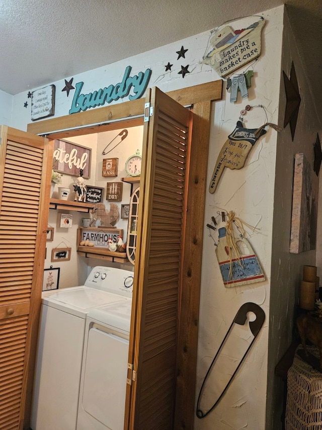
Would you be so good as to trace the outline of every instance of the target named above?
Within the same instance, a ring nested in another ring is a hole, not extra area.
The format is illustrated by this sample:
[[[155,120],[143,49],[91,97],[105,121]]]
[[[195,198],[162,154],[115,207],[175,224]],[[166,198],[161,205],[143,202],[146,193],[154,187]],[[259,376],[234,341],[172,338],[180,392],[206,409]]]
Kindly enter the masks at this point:
[[[318,178],[304,154],[295,155],[290,253],[315,250]]]

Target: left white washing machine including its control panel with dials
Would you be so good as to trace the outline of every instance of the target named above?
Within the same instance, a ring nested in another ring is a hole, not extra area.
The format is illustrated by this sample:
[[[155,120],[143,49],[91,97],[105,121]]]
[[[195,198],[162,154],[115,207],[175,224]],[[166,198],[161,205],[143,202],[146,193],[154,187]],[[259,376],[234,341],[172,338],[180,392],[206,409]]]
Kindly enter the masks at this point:
[[[86,316],[132,297],[133,272],[96,266],[84,285],[45,291],[35,368],[31,428],[75,430]]]

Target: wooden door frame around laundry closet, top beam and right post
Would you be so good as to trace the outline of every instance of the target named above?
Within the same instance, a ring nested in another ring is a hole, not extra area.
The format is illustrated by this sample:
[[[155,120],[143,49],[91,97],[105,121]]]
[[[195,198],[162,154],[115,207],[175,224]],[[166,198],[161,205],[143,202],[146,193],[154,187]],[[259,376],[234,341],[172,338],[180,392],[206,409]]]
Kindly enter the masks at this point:
[[[179,313],[175,430],[192,430],[195,412],[198,320],[211,102],[222,99],[222,80],[167,93],[194,113],[188,213]],[[143,124],[144,98],[28,124],[29,133],[67,139]]]

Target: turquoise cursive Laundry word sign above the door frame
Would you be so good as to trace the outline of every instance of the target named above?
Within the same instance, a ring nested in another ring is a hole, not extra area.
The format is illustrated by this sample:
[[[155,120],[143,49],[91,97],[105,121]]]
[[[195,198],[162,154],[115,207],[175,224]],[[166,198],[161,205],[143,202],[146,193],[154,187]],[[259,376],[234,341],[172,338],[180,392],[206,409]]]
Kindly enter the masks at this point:
[[[139,72],[137,75],[130,76],[131,69],[131,66],[125,69],[123,79],[118,84],[109,85],[88,94],[82,93],[84,82],[77,82],[69,114],[87,110],[91,107],[102,106],[105,103],[111,103],[127,96],[129,96],[130,100],[140,98],[150,80],[151,69],[146,69],[144,73]]]

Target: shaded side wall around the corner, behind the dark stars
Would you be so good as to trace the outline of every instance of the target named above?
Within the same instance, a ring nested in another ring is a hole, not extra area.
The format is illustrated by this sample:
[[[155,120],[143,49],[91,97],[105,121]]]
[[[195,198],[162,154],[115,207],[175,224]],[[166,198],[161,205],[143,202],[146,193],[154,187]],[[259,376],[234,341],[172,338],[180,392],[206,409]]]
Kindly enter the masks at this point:
[[[268,401],[267,429],[279,428],[282,407],[282,382],[273,378],[274,368],[292,341],[294,315],[298,305],[300,281],[303,265],[318,266],[321,275],[321,229],[318,227],[316,251],[290,254],[291,210],[293,197],[294,157],[296,153],[304,153],[312,167],[314,152],[313,144],[319,132],[319,120],[312,103],[306,76],[303,74],[301,60],[292,34],[287,14],[284,17],[283,56],[281,67],[281,88],[279,101],[279,122],[283,125],[286,105],[283,71],[290,77],[291,65],[294,63],[299,93],[301,97],[298,119],[292,141],[290,126],[278,134],[276,153],[276,178],[274,196],[274,220],[272,241],[272,279],[270,299],[269,328],[269,366],[268,366]],[[319,174],[321,177],[321,173]],[[320,208],[318,210],[320,214]],[[320,216],[319,216],[320,218]],[[309,220],[307,220],[307,225]],[[319,223],[318,223],[319,225]],[[316,255],[319,256],[316,259]]]

